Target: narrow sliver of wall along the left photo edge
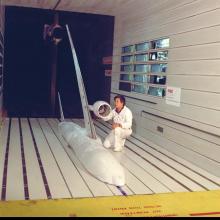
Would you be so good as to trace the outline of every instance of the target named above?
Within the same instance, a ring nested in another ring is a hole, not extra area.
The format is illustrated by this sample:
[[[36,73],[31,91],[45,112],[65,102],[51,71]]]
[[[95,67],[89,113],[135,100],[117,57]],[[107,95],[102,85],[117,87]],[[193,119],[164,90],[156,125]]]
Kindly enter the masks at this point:
[[[4,16],[5,8],[0,0],[0,122],[3,111],[3,57],[4,57]]]

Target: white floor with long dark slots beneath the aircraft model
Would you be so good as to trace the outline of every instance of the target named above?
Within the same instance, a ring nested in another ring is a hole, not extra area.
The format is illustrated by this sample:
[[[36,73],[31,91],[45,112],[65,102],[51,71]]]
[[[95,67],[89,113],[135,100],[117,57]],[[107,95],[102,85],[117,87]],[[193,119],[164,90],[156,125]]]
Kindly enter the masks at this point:
[[[80,119],[71,120],[81,126]],[[126,185],[91,176],[58,132],[57,119],[7,118],[0,136],[1,200],[92,198],[220,189],[220,178],[132,135],[123,152],[113,152],[126,173]],[[95,121],[103,138],[110,124]]]

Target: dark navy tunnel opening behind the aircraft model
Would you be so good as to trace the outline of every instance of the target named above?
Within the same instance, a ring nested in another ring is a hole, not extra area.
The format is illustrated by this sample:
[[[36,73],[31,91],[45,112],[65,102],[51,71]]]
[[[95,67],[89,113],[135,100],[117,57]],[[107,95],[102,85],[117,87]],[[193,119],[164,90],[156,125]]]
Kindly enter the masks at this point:
[[[57,90],[65,117],[82,117],[75,67],[65,31],[68,24],[78,56],[89,104],[110,101],[111,78],[105,77],[102,58],[112,56],[114,17],[58,12],[64,32],[57,45]],[[43,39],[51,10],[6,7],[4,104],[9,117],[58,117],[51,113],[51,44]]]

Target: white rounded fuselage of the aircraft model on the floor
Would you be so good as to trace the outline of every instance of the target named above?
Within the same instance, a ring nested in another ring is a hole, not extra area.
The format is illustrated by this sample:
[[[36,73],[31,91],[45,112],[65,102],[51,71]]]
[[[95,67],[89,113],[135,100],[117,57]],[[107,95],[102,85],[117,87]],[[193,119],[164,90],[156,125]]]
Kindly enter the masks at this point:
[[[89,173],[103,182],[125,185],[123,167],[100,140],[89,138],[84,128],[72,122],[61,122],[59,130]]]

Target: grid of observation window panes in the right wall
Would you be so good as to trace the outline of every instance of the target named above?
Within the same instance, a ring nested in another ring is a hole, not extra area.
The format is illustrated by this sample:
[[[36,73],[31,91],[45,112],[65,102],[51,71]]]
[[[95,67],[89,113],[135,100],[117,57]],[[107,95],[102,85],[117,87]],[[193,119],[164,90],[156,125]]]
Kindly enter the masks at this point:
[[[163,38],[123,47],[119,89],[163,98],[169,46]]]

